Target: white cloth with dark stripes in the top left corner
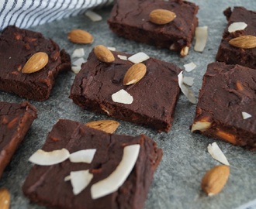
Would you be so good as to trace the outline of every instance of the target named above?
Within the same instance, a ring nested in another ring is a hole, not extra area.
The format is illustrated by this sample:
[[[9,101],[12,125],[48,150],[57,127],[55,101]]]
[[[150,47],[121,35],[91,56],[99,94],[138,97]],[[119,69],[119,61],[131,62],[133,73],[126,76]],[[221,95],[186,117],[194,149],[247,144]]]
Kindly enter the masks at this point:
[[[55,19],[79,15],[112,0],[0,0],[0,31],[9,25],[37,26]]]

